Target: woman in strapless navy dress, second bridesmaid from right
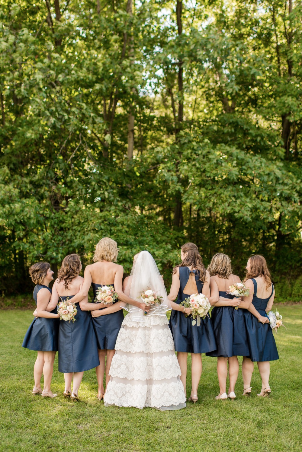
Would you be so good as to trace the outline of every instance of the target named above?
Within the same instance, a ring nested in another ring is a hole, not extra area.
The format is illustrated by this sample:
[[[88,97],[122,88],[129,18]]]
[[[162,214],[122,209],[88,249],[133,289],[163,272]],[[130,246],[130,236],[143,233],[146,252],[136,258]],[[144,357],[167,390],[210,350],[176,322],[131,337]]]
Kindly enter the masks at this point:
[[[236,310],[241,298],[227,294],[228,288],[240,282],[239,276],[232,274],[231,259],[227,254],[217,253],[208,266],[210,273],[210,303],[212,324],[217,349],[206,353],[217,357],[217,374],[220,392],[216,400],[235,399],[235,384],[239,372],[237,355],[249,354],[243,310]],[[227,388],[227,362],[229,363],[229,390]]]

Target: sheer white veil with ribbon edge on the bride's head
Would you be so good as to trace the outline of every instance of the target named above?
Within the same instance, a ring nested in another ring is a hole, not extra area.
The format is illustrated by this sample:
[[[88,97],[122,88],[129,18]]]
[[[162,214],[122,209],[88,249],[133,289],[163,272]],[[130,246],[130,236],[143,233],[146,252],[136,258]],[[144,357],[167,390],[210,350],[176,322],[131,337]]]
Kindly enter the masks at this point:
[[[140,297],[141,293],[148,289],[153,290],[159,297],[162,297],[160,298],[160,306],[151,306],[150,311],[144,315],[142,309],[133,305],[127,304],[123,306],[122,304],[123,309],[132,313],[133,320],[144,321],[146,316],[166,315],[166,312],[172,309],[165,290],[164,280],[160,275],[155,260],[148,251],[141,251],[133,263],[125,293],[133,300],[143,302]]]

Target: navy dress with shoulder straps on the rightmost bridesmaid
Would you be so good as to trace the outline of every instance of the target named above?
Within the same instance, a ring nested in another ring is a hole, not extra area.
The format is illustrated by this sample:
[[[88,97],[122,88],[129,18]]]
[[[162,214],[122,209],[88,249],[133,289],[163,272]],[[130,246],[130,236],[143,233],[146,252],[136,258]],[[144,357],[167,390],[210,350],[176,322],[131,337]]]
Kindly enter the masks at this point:
[[[252,303],[256,310],[265,317],[266,306],[270,297],[273,295],[274,286],[272,284],[272,293],[268,298],[257,297],[257,282],[252,279],[254,284],[254,296]],[[251,314],[247,309],[243,309],[247,340],[250,348],[250,353],[246,355],[251,361],[274,361],[279,359],[276,342],[273,335],[273,330],[268,323],[262,324],[258,321],[255,315]]]

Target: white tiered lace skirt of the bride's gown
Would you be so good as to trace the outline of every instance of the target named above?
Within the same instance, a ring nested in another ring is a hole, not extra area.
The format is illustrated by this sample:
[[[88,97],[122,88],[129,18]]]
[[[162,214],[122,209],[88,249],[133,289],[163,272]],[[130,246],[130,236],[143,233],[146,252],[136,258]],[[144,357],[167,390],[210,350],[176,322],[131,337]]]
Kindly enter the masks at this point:
[[[186,406],[166,316],[127,314],[118,333],[104,405],[179,410]]]

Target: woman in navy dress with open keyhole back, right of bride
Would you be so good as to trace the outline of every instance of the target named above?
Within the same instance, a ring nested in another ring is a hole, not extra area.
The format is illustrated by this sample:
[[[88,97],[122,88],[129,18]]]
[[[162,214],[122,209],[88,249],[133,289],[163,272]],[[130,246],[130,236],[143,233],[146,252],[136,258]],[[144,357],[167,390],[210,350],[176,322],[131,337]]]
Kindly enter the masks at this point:
[[[173,270],[172,285],[168,298],[177,300],[172,305],[170,329],[172,331],[175,351],[181,370],[181,381],[186,393],[187,357],[192,357],[192,391],[189,397],[194,403],[198,400],[198,383],[202,372],[201,353],[216,350],[215,336],[211,319],[206,316],[200,325],[192,325],[192,318],[184,316],[181,301],[194,293],[203,293],[210,298],[210,275],[203,265],[203,260],[194,243],[186,243],[181,247],[181,264]],[[176,306],[175,306],[176,305]]]

